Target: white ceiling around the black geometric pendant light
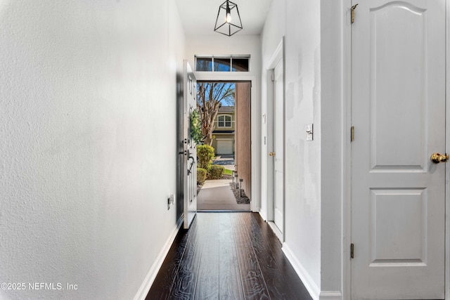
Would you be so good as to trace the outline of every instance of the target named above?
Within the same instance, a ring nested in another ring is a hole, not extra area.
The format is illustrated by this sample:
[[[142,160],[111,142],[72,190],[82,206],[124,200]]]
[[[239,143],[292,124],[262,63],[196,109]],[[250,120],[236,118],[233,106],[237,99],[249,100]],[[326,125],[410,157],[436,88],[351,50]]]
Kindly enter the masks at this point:
[[[219,6],[225,0],[175,0],[185,34],[214,34]],[[243,30],[260,34],[272,0],[233,0],[238,5]],[[218,34],[218,33],[216,33]]]

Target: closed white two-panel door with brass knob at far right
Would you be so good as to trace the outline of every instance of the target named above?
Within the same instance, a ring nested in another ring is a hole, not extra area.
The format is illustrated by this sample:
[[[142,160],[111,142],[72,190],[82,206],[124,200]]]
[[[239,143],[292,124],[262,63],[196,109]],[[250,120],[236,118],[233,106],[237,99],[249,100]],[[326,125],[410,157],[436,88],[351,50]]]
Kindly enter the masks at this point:
[[[354,4],[352,299],[444,299],[445,1]]]

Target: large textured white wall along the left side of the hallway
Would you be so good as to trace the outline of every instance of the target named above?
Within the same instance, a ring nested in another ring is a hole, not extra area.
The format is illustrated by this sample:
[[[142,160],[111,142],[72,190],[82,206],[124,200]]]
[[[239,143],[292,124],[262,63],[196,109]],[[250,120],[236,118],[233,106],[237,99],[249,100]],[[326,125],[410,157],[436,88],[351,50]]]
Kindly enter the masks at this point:
[[[0,282],[77,285],[0,298],[132,299],[176,229],[174,3],[2,1],[0,28]]]

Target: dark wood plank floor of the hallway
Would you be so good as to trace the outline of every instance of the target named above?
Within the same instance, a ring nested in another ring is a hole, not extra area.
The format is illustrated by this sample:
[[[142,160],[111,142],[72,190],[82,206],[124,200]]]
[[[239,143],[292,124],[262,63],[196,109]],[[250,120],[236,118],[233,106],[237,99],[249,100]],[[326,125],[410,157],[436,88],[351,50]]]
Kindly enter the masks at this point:
[[[259,214],[198,213],[146,299],[311,299]]]

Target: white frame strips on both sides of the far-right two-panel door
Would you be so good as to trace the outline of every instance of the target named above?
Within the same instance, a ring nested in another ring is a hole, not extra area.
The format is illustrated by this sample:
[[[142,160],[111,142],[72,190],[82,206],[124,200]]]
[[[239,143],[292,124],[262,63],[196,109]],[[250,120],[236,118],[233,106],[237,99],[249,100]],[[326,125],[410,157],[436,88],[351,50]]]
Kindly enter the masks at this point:
[[[446,153],[450,152],[450,4],[445,1],[446,11]],[[342,0],[342,299],[352,296],[352,262],[349,245],[352,242],[352,159],[350,127],[352,126],[352,0]],[[357,8],[356,8],[357,13]],[[448,165],[448,163],[447,163]],[[450,299],[450,167],[446,167],[445,183],[445,299]]]

